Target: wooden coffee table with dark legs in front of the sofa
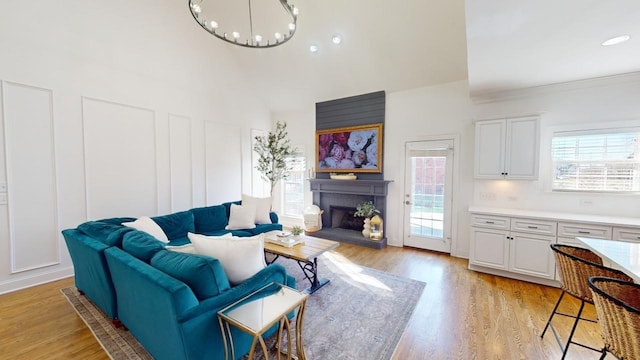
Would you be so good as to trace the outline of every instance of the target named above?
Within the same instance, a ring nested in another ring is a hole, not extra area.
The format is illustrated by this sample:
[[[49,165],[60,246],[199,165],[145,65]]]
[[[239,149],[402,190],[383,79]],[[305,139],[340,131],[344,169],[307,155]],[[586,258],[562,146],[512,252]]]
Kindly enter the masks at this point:
[[[266,237],[275,237],[280,231],[271,231],[265,234]],[[320,239],[309,235],[300,235],[304,238],[304,243],[297,244],[292,247],[286,247],[264,242],[264,251],[275,255],[272,260],[268,260],[267,264],[271,264],[278,260],[280,256],[287,259],[293,259],[298,262],[298,266],[302,269],[304,276],[309,280],[311,286],[303,292],[313,294],[321,287],[329,282],[329,279],[318,278],[318,256],[326,251],[333,250],[340,245],[339,242],[333,240]]]

